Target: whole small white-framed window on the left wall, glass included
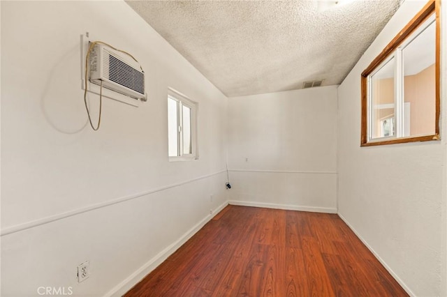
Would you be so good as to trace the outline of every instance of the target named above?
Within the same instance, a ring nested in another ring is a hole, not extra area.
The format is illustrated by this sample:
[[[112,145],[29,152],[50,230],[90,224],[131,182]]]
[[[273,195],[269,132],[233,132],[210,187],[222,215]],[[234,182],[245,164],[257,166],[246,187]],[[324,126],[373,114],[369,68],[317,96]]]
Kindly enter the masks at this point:
[[[197,102],[169,89],[168,156],[170,161],[196,160]]]

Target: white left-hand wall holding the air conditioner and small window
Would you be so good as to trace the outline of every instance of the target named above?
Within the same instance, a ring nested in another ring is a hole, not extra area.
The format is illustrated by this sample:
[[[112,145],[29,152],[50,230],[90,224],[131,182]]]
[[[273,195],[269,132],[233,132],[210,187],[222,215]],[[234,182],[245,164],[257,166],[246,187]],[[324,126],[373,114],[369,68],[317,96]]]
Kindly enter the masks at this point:
[[[147,74],[148,102],[104,99],[98,132],[80,88],[86,31]],[[227,98],[124,1],[1,1],[1,44],[1,293],[122,292],[226,203]],[[198,102],[200,160],[168,162],[168,87]]]

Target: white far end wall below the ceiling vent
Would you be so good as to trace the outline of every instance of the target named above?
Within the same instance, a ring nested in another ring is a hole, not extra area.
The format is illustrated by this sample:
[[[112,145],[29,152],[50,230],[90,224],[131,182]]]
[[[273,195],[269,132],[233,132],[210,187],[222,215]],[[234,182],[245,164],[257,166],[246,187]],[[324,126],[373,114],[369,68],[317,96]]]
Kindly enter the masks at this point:
[[[337,86],[229,98],[230,203],[337,212]]]

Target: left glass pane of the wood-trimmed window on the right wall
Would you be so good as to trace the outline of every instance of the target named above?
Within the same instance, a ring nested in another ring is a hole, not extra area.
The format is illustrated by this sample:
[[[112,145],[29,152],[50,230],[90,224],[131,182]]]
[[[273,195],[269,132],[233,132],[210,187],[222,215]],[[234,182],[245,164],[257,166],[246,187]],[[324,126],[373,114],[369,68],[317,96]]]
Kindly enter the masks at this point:
[[[395,58],[371,76],[371,138],[395,135]]]

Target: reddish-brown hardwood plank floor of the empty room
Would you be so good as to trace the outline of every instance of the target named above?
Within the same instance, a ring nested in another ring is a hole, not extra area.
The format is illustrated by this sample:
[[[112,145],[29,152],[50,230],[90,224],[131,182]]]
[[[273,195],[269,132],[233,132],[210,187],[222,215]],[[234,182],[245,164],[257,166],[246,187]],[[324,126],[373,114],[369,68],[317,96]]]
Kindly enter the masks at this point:
[[[408,296],[325,213],[227,206],[129,296]]]

